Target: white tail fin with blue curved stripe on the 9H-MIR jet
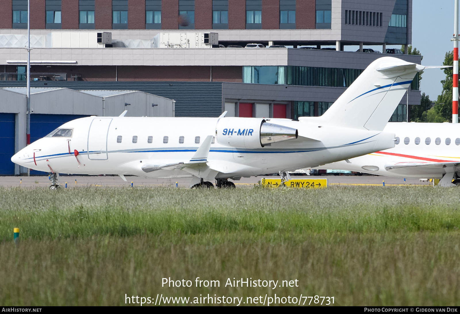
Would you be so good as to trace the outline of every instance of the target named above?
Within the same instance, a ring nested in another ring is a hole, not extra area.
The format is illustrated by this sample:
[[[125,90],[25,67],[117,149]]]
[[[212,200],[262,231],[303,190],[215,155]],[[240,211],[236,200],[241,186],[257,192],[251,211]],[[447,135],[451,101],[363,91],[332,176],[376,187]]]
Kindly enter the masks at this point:
[[[382,131],[399,101],[425,67],[395,57],[372,62],[321,119],[325,124]]]

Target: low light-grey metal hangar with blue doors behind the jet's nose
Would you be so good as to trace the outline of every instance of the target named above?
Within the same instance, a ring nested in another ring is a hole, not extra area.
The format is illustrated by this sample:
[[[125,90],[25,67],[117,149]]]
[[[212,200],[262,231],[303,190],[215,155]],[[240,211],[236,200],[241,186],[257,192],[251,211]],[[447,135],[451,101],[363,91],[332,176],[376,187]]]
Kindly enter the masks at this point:
[[[27,89],[0,88],[0,99],[0,175],[27,173],[27,169],[10,160],[16,151],[26,146]],[[73,119],[118,116],[125,110],[126,116],[131,117],[173,117],[174,101],[138,90],[31,88],[30,141]]]

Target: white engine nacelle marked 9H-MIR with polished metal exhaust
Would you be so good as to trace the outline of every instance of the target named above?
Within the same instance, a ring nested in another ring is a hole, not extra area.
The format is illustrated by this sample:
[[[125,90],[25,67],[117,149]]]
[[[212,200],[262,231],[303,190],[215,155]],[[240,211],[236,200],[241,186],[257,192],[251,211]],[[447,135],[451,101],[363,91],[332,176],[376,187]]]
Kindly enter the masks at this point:
[[[293,140],[297,129],[268,123],[262,118],[220,118],[216,125],[216,139],[220,145],[236,148],[262,148],[266,145]]]

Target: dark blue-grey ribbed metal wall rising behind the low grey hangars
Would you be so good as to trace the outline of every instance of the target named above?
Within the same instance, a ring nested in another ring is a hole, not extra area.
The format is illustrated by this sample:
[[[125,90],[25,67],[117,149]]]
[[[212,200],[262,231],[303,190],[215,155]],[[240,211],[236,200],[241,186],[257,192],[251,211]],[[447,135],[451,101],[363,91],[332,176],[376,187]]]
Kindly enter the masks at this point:
[[[73,90],[140,90],[176,101],[176,117],[219,117],[222,113],[220,82],[30,82],[31,87],[66,87]],[[3,81],[4,87],[25,86]],[[46,85],[45,85],[46,84]]]

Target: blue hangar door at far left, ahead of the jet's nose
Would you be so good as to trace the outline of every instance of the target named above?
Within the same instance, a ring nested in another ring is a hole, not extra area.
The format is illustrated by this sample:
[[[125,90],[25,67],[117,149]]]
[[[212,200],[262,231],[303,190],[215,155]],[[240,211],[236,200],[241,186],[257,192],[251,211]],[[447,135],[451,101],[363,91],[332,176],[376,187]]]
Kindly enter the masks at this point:
[[[14,134],[16,113],[0,113],[0,174],[14,175]]]

